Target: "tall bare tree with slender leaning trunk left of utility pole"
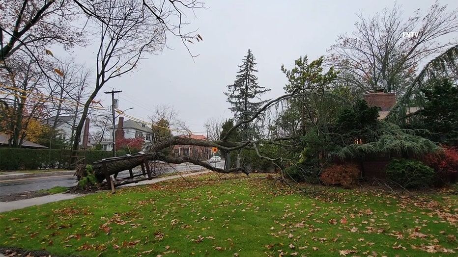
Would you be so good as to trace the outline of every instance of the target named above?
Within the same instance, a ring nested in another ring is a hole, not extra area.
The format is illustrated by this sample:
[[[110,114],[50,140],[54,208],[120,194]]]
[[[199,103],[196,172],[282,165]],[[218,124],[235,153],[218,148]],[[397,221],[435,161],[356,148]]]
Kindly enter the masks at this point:
[[[178,36],[183,40],[188,38],[188,35],[181,34],[181,15],[183,13],[178,5],[183,5],[185,8],[197,7],[198,1],[168,1],[169,11],[166,12],[166,17],[176,14],[179,23],[173,30],[168,20],[158,16],[164,11],[164,6],[167,6],[166,1],[162,7],[153,10],[151,5],[146,4],[146,1],[140,0],[100,0],[87,1],[84,8],[85,12],[95,16],[100,35],[100,45],[97,52],[97,65],[95,85],[92,94],[86,101],[81,117],[75,131],[75,139],[81,135],[84,120],[88,113],[90,104],[97,96],[102,87],[112,78],[119,77],[131,72],[137,67],[140,59],[147,53],[155,53],[161,51],[165,44],[165,32],[177,31]],[[147,8],[150,12],[145,12]],[[162,13],[164,14],[164,13]],[[201,40],[200,35],[198,35]],[[190,39],[187,39],[190,40]],[[73,149],[78,149],[78,140],[75,140]],[[74,162],[76,157],[73,158]]]

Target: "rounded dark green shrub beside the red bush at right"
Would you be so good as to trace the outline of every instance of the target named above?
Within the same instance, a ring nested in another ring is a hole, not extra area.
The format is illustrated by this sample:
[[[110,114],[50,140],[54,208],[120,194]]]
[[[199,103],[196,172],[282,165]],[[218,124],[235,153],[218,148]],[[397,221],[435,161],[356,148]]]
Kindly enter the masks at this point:
[[[421,161],[392,159],[386,167],[386,176],[404,188],[418,189],[429,186],[434,170]]]

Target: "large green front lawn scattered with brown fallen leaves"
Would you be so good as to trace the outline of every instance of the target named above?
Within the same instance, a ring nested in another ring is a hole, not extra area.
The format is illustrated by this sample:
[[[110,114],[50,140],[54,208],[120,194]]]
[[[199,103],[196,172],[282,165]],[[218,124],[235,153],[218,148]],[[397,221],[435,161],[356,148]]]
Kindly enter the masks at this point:
[[[310,189],[310,187],[308,187]],[[0,215],[1,247],[96,256],[456,256],[458,197],[202,175]],[[455,252],[455,253],[454,253]]]

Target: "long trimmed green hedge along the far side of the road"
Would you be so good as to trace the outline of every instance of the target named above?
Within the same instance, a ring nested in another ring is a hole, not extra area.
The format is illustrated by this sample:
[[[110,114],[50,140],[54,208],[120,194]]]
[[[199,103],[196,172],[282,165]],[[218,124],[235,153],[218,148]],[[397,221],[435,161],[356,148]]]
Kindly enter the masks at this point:
[[[0,148],[0,170],[63,169],[70,164],[71,153],[71,150]],[[116,152],[117,156],[125,154],[124,150]],[[80,151],[78,155],[84,155],[84,162],[92,164],[113,157],[113,152],[86,150]]]

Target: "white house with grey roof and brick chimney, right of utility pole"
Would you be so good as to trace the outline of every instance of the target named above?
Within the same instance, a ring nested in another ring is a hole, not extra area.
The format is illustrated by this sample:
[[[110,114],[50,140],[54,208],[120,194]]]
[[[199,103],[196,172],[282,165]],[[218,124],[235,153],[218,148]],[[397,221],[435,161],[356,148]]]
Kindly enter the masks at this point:
[[[144,146],[149,146],[153,137],[153,130],[149,125],[137,122],[134,120],[124,121],[123,117],[119,117],[118,123],[116,124],[116,137],[123,138],[136,138],[143,137],[145,139]],[[102,150],[112,151],[113,150],[113,128],[108,128],[110,133],[110,139],[100,142]]]

